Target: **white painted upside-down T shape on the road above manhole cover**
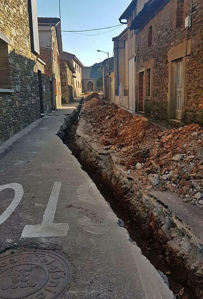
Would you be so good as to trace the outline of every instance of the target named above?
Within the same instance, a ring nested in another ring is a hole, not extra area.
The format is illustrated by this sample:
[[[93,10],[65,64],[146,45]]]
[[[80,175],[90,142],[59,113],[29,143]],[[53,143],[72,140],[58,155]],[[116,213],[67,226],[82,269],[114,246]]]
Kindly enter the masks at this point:
[[[43,215],[42,224],[25,225],[21,234],[22,238],[58,237],[67,235],[69,229],[68,223],[53,223],[60,189],[61,182],[55,182],[51,191],[47,208]]]

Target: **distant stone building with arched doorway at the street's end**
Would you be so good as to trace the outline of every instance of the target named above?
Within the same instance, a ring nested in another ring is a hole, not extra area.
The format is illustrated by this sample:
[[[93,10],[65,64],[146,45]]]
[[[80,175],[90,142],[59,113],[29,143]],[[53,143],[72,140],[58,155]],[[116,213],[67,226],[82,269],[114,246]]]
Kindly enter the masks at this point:
[[[82,70],[82,91],[98,91],[101,90],[99,84],[99,78],[102,76],[102,71],[99,71],[101,65],[93,65],[90,67],[84,67]]]

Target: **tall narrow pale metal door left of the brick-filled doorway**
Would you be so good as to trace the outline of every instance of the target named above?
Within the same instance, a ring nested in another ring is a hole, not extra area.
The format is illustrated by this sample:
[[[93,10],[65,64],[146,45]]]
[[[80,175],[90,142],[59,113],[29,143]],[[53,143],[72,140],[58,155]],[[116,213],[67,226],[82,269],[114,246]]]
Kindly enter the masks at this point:
[[[135,57],[129,60],[129,109],[135,111]]]

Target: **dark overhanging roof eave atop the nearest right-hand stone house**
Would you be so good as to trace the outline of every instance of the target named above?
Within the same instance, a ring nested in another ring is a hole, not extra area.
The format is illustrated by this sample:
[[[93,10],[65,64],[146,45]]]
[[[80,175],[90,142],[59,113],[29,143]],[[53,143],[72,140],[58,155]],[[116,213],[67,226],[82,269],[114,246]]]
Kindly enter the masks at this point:
[[[149,0],[138,13],[130,25],[130,30],[142,30],[144,26],[169,2],[170,0]]]

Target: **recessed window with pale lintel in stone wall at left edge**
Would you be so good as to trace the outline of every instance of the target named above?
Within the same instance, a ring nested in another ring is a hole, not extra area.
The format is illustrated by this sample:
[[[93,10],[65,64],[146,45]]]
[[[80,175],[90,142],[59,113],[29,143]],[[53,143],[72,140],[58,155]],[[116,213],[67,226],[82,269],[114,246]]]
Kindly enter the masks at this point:
[[[9,38],[3,32],[1,32],[0,38],[0,88],[11,89],[10,80],[10,64],[8,60],[8,43]]]

